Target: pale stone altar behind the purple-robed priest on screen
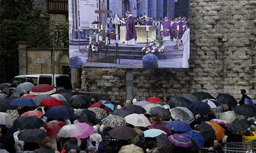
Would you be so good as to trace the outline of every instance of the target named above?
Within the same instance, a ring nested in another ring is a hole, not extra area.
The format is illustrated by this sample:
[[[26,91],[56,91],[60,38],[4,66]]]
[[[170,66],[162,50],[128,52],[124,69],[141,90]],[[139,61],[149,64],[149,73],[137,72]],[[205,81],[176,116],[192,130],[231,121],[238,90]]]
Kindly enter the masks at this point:
[[[146,43],[147,41],[147,33],[146,33],[146,27],[149,27],[149,38],[150,42],[154,41],[156,39],[156,28],[154,25],[135,25],[135,30],[137,34],[137,43]],[[125,42],[126,38],[126,26],[120,27],[120,42]]]

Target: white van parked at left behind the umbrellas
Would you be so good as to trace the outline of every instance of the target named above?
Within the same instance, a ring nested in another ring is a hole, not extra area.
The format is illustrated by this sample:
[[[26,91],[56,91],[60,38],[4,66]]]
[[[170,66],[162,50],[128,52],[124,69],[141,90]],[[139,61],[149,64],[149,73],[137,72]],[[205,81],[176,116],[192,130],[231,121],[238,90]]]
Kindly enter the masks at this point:
[[[72,91],[72,84],[70,77],[65,74],[55,74],[54,75],[54,88],[58,91],[58,93],[67,93]],[[17,75],[14,77],[9,83],[12,85],[9,88],[16,88],[17,85],[31,82],[35,85],[38,84],[48,84],[52,85],[52,74],[28,74],[28,75]]]

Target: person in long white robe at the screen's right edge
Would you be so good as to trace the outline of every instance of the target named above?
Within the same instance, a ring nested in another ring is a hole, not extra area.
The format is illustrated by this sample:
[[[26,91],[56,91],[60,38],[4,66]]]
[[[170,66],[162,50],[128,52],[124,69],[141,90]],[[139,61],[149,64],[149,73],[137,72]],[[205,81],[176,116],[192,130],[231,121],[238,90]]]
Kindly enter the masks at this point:
[[[183,59],[182,59],[182,67],[183,68],[189,68],[189,52],[190,52],[190,24],[189,22],[186,23],[186,31],[181,37],[181,40],[183,42],[184,48],[183,48]]]

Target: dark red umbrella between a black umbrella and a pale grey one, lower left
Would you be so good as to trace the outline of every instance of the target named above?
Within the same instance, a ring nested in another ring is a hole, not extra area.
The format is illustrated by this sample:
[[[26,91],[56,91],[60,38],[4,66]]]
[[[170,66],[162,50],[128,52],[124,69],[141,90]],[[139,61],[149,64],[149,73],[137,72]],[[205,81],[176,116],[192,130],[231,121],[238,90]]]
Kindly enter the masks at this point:
[[[56,135],[58,131],[60,131],[61,127],[65,126],[66,124],[63,121],[48,121],[43,127],[46,129],[46,134],[48,136]]]

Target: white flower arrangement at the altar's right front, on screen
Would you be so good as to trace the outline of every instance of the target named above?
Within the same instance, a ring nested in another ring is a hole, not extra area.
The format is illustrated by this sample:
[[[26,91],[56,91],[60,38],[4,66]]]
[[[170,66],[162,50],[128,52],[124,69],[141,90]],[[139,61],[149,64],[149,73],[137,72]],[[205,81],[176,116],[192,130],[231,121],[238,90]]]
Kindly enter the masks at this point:
[[[146,54],[153,53],[153,54],[158,54],[158,53],[163,53],[165,49],[165,46],[160,44],[156,41],[149,43],[147,47],[143,47],[141,50],[145,51]]]

